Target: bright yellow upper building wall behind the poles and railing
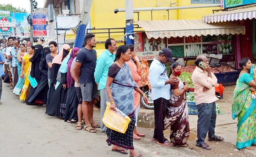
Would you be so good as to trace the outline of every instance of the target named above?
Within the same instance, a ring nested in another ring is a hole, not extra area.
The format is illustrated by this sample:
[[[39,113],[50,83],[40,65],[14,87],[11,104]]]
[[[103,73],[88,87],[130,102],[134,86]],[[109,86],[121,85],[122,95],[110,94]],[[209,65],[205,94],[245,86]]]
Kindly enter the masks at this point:
[[[134,8],[141,7],[170,7],[170,1],[173,7],[190,6],[190,5],[206,5],[206,4],[191,4],[191,0],[134,0]],[[176,4],[175,4],[176,3]],[[125,0],[93,0],[90,20],[91,28],[117,28],[125,27],[125,12],[114,13],[114,9],[125,8]],[[196,8],[196,9],[179,9],[169,10],[169,20],[188,20],[202,19],[202,16],[212,14],[213,9],[219,7]],[[134,21],[138,20],[137,13],[134,13]],[[151,20],[151,11],[140,11],[139,20]],[[152,20],[168,20],[168,12],[153,11]],[[136,26],[135,26],[136,27]],[[134,29],[143,30],[143,29]],[[115,30],[116,31],[116,30]],[[94,31],[91,31],[94,33]],[[122,38],[122,33],[113,37],[115,40]],[[107,34],[95,34],[97,42],[104,42],[108,39]],[[124,43],[119,43],[121,45]],[[104,49],[103,43],[98,43],[96,49]]]

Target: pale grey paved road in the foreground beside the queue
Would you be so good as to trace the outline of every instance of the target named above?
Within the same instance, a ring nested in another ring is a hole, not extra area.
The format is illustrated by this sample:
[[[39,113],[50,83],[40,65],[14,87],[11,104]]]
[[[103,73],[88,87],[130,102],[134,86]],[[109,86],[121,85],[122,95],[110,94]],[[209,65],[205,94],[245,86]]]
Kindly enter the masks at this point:
[[[106,134],[75,130],[75,124],[45,114],[45,106],[28,106],[15,97],[8,84],[3,84],[0,105],[0,157],[128,157],[112,152]],[[95,121],[100,112],[95,108]],[[151,141],[152,130],[141,141],[134,141],[135,150],[146,157],[198,157],[196,152],[181,147],[165,147]],[[158,155],[153,155],[158,152]]]

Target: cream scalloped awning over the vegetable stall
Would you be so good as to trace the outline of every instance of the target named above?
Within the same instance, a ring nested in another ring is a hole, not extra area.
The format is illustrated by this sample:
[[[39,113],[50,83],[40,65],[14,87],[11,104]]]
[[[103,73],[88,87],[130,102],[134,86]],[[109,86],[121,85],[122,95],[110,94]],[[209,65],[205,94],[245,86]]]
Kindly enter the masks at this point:
[[[235,35],[245,34],[245,27],[232,22],[206,24],[202,20],[163,20],[163,21],[135,21],[142,27],[147,37],[195,37],[201,35]]]

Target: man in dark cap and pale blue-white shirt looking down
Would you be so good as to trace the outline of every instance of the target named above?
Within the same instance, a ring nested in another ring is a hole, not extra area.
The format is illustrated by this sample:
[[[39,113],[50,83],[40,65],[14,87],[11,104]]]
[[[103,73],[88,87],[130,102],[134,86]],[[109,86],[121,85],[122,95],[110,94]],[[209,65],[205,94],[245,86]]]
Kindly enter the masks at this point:
[[[153,141],[164,146],[173,146],[173,143],[168,142],[163,136],[163,120],[167,112],[167,104],[170,99],[171,84],[178,79],[169,79],[165,68],[165,63],[174,62],[173,52],[171,49],[161,49],[158,57],[154,58],[149,68],[149,82],[151,84],[152,99],[154,100],[154,117],[155,130]]]

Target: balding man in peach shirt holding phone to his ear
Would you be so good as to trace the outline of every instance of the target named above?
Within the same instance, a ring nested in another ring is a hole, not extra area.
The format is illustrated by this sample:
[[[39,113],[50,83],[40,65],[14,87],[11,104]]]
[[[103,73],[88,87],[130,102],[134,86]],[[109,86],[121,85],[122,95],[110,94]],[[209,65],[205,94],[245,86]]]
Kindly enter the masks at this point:
[[[223,141],[223,137],[215,136],[216,106],[215,87],[219,86],[217,78],[211,72],[208,58],[200,55],[195,60],[195,71],[192,82],[195,88],[195,103],[198,108],[197,146],[210,150],[211,146],[204,142],[208,132],[208,141]]]

